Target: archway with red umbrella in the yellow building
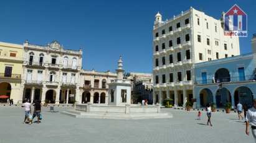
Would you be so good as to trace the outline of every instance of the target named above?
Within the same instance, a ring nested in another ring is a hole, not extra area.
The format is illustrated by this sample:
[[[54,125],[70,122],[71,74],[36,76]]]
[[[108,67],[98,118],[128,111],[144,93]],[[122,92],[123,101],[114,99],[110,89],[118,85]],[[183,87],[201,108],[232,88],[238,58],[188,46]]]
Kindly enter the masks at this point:
[[[7,82],[2,82],[0,84],[0,95],[6,95],[6,97],[2,96],[2,98],[0,98],[0,103],[6,103],[7,98],[11,99],[11,90],[11,84]]]

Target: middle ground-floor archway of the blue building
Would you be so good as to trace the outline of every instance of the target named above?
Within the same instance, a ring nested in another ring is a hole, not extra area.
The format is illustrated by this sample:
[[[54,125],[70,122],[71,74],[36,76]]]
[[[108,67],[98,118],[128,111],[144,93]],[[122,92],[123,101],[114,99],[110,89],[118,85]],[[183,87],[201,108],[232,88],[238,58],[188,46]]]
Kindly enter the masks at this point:
[[[223,107],[227,102],[231,103],[231,94],[228,89],[222,87],[216,92],[216,105],[218,107]]]

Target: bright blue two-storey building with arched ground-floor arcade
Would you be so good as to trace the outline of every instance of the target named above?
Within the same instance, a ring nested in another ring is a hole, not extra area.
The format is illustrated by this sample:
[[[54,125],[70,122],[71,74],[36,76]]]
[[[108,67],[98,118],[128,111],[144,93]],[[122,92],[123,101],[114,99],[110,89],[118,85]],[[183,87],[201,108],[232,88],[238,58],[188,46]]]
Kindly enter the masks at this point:
[[[196,107],[216,103],[222,107],[230,102],[252,106],[256,98],[256,34],[252,38],[252,53],[197,63],[194,94]]]

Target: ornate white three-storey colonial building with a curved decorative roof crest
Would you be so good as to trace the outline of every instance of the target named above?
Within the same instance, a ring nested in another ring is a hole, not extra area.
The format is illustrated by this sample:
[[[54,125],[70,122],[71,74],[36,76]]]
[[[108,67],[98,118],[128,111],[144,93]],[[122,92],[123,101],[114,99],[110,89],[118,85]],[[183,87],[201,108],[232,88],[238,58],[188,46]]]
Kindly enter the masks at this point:
[[[65,50],[58,41],[46,46],[24,43],[23,100],[75,103],[80,100],[82,50]]]

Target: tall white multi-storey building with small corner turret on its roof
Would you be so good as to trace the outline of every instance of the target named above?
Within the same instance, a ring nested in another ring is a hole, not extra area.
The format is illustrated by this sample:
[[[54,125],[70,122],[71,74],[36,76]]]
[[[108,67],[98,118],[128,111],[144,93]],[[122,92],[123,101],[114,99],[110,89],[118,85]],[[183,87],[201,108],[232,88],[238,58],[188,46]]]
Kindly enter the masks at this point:
[[[193,93],[194,63],[240,54],[239,38],[225,37],[222,20],[190,8],[163,21],[156,14],[153,28],[154,103],[173,98],[184,106]]]

